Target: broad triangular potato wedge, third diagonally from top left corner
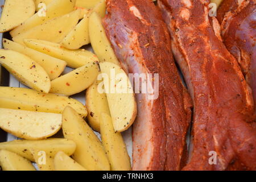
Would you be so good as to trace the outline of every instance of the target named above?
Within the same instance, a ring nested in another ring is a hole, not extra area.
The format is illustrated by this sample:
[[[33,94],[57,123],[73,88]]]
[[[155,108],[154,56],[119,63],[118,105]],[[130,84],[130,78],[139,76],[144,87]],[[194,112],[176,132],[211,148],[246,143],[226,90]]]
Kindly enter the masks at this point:
[[[14,36],[16,43],[23,44],[23,39],[40,39],[60,43],[61,40],[76,26],[79,21],[81,10],[72,11],[69,14],[53,18],[30,30]],[[49,33],[51,32],[51,33]]]

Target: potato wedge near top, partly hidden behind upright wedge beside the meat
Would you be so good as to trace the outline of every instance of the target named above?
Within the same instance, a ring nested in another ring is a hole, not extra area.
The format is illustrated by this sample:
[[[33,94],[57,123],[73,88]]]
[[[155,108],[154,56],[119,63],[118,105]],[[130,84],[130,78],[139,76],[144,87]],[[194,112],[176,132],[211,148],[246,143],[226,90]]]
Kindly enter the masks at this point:
[[[106,2],[102,0],[97,3],[92,10],[88,11],[87,14],[84,15],[84,18],[76,25],[75,28],[61,42],[61,46],[68,49],[79,49],[80,47],[89,44],[89,16],[95,11],[102,18],[106,14]]]

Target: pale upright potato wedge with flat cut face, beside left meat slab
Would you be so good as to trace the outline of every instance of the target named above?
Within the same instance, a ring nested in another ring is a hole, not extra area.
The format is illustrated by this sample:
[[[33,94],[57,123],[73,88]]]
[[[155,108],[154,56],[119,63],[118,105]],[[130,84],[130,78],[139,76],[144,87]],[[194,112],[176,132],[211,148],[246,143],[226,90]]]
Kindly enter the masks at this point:
[[[104,88],[108,98],[109,110],[116,132],[127,130],[137,115],[137,104],[133,86],[125,71],[109,62],[100,63],[101,73],[105,73]]]

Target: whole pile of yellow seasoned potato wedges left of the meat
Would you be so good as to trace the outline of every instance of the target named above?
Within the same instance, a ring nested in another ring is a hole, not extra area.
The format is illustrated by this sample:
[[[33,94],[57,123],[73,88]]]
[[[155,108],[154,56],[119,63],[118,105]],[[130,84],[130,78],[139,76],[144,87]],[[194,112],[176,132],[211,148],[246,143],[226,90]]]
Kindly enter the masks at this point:
[[[11,39],[2,40],[0,64],[27,88],[0,86],[0,128],[20,138],[0,143],[2,170],[131,169],[121,132],[137,104],[102,27],[105,12],[105,0],[5,1],[0,32]],[[129,92],[109,92],[120,82],[113,71]],[[84,90],[86,105],[72,98]]]

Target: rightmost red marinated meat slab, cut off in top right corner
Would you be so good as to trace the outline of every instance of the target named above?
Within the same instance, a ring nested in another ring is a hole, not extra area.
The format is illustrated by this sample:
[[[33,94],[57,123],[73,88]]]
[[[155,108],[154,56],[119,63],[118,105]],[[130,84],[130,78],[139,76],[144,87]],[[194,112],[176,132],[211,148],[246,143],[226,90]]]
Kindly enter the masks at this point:
[[[217,19],[224,44],[240,64],[256,103],[256,0],[225,0]]]

